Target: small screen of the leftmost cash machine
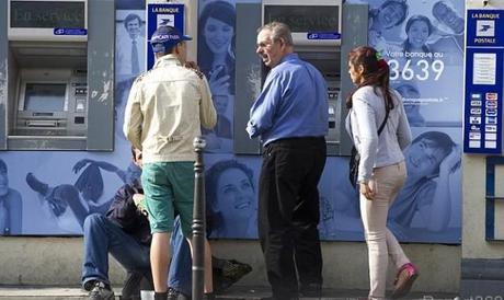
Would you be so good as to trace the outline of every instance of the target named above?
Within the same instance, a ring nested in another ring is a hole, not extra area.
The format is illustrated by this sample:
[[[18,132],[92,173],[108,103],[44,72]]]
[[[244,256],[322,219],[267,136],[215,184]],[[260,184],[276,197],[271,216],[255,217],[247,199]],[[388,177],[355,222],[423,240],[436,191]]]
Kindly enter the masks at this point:
[[[66,83],[26,83],[24,111],[64,112]]]

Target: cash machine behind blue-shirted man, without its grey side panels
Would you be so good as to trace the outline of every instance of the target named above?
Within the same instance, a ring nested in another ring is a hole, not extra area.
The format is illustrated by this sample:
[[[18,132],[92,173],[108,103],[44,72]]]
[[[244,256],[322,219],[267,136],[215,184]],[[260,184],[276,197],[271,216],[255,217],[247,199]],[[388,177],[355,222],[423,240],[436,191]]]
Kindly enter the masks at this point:
[[[295,51],[302,60],[313,65],[325,78],[329,99],[329,134],[327,143],[332,148],[340,141],[337,130],[341,117],[340,45],[341,0],[305,1],[263,0],[263,24],[278,21],[287,24],[293,34]],[[263,72],[263,78],[265,72]]]

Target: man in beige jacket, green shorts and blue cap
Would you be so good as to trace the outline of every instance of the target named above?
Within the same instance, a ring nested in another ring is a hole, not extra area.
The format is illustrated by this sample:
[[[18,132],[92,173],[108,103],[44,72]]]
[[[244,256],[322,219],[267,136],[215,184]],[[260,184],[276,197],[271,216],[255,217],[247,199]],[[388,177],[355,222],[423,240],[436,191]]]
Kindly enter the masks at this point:
[[[186,68],[186,41],[171,26],[160,26],[150,44],[156,55],[152,70],[134,82],[126,105],[124,134],[144,155],[141,183],[149,214],[152,244],[150,263],[154,299],[168,299],[170,235],[174,211],[191,244],[194,173],[193,140],[201,127],[211,129],[217,113],[202,72]],[[205,298],[213,299],[211,253],[205,243]]]

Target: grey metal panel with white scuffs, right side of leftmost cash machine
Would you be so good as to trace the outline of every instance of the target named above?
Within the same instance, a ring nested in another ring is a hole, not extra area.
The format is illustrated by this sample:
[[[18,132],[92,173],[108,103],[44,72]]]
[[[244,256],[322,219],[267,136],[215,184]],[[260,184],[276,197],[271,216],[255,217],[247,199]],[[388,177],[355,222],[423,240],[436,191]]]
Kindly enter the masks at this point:
[[[114,150],[114,1],[88,2],[88,147]]]

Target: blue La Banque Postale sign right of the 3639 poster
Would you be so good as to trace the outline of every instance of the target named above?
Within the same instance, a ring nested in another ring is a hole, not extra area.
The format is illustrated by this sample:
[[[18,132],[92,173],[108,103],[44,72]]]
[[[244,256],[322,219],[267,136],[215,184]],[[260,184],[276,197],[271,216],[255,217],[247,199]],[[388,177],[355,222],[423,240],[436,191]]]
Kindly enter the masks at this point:
[[[463,151],[502,153],[504,10],[466,15]]]

